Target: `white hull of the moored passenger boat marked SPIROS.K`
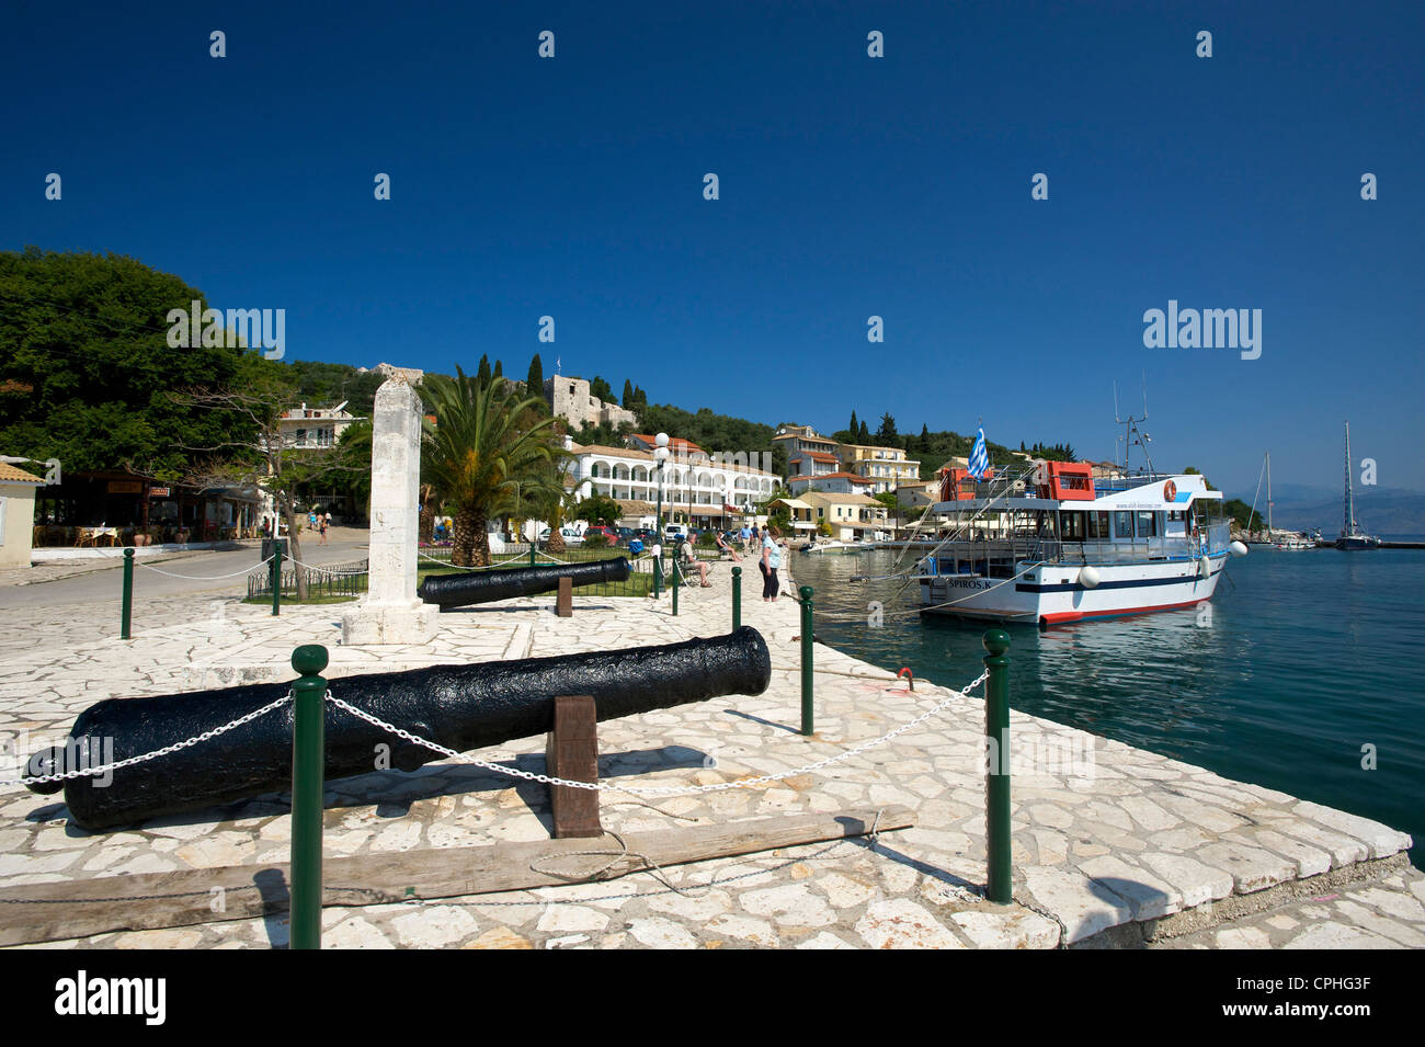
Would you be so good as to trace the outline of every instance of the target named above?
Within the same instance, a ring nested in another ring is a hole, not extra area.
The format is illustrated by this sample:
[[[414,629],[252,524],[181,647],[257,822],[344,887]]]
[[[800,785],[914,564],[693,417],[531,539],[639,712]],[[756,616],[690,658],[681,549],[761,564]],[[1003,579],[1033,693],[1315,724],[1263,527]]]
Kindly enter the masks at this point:
[[[1094,564],[1099,584],[1079,581],[1079,566],[1019,564],[1022,577],[926,575],[921,578],[921,610],[963,618],[1060,625],[1086,618],[1110,618],[1191,607],[1210,600],[1227,563],[1227,553],[1210,560],[1203,574],[1198,560],[1136,564]],[[1027,568],[1027,570],[1026,570]]]

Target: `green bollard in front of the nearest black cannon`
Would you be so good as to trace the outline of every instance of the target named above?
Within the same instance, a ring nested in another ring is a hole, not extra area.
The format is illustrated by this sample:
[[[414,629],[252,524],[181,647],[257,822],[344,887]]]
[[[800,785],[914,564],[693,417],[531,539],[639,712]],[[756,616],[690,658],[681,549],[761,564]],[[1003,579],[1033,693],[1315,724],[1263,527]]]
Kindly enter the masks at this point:
[[[292,940],[291,949],[322,947],[322,778],[326,764],[326,648],[292,652],[302,674],[292,684]]]

